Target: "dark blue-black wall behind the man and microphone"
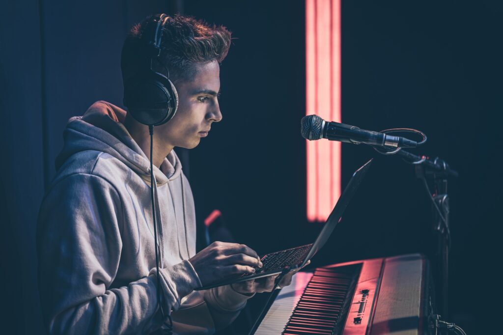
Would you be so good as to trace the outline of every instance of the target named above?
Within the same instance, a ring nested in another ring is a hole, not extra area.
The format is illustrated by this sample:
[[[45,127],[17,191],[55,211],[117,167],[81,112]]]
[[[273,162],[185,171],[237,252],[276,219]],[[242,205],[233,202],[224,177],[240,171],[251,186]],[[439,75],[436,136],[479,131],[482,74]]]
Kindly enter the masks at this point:
[[[303,1],[2,3],[4,333],[43,333],[34,235],[66,121],[96,100],[121,106],[120,49],[128,28],[147,14],[176,11],[224,25],[235,38],[221,66],[223,121],[197,148],[181,152],[199,232],[218,208],[235,238],[260,254],[309,243],[317,233],[320,225],[306,221],[299,135]],[[414,152],[440,156],[460,173],[449,182],[449,320],[473,334],[493,332],[499,305],[502,15],[496,1],[342,1],[343,122],[423,130],[428,143]],[[343,144],[343,185],[374,155]],[[413,168],[377,157],[313,266],[428,254],[430,222]]]

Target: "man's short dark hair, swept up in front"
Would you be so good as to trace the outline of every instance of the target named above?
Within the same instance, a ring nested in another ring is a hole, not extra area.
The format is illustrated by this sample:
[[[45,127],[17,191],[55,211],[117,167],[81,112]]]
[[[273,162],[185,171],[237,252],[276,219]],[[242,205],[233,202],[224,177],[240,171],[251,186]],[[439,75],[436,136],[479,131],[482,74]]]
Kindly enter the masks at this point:
[[[124,80],[144,66],[140,63],[145,62],[141,36],[150,18],[134,25],[124,41],[121,55]],[[152,62],[152,67],[166,76],[169,74],[172,81],[190,79],[195,74],[196,63],[222,62],[229,51],[230,36],[231,33],[223,26],[208,25],[193,17],[169,17],[162,29],[160,56]]]

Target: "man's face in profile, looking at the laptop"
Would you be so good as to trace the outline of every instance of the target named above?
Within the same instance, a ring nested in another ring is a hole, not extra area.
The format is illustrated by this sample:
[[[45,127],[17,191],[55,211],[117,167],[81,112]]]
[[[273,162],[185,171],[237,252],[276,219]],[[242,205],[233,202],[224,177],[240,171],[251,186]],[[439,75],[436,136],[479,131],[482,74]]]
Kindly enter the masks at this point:
[[[195,66],[196,75],[192,80],[174,83],[178,92],[178,110],[173,119],[158,127],[167,144],[188,149],[196,147],[201,137],[208,135],[211,124],[222,119],[218,106],[218,62]]]

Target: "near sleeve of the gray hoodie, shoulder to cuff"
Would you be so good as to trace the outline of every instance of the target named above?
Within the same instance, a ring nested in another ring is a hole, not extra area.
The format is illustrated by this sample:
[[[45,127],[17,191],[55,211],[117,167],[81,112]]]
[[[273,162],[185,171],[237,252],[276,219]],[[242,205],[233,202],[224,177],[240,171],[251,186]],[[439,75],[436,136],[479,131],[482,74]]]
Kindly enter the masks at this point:
[[[37,228],[38,280],[50,334],[149,333],[161,325],[155,272],[111,287],[121,258],[121,200],[101,177],[74,174],[44,198]],[[162,270],[165,310],[199,286],[188,261]]]

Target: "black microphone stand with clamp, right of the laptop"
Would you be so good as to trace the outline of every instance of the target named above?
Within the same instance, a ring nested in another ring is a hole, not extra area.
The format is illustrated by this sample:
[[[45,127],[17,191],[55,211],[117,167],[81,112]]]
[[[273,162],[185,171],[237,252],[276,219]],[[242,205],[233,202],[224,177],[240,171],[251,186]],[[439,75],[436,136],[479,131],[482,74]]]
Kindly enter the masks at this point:
[[[437,242],[434,262],[436,287],[439,288],[440,304],[439,310],[442,315],[448,315],[448,293],[449,293],[449,248],[451,236],[449,230],[449,195],[447,194],[447,180],[449,177],[458,177],[458,173],[452,170],[449,165],[440,158],[434,160],[426,156],[417,156],[410,152],[399,150],[405,161],[415,165],[415,175],[423,180],[426,189],[429,191],[427,180],[435,185],[435,193],[429,194],[433,200],[433,232]]]

